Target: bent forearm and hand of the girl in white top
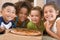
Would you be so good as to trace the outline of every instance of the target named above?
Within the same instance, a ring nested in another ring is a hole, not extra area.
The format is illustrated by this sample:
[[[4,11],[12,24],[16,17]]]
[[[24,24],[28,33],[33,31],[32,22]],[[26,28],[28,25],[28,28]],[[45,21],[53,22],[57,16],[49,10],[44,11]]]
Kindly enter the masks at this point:
[[[49,22],[46,21],[46,22],[44,23],[44,26],[45,26],[46,31],[47,31],[47,33],[48,33],[49,35],[51,35],[52,37],[60,40],[59,36],[58,36],[57,34],[55,34],[54,32],[51,31],[51,29],[50,29],[50,28],[51,28],[51,24],[49,24]]]

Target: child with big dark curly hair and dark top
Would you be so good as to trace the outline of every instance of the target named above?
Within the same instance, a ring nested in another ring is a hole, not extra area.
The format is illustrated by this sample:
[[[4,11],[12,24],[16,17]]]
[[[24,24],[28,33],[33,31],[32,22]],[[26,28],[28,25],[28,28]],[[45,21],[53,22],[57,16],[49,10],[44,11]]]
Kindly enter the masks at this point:
[[[20,28],[26,28],[26,24],[28,23],[27,16],[30,12],[32,5],[26,1],[20,1],[15,3],[17,8],[17,17],[15,18],[15,26]]]

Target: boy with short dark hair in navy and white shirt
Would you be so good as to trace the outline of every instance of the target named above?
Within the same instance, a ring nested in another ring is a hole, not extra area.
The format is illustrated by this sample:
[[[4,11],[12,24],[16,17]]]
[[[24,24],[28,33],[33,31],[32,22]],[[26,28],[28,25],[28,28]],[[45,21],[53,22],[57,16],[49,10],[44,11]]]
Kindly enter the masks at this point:
[[[12,27],[12,20],[16,17],[16,8],[15,5],[12,3],[4,3],[2,6],[0,17],[0,32],[9,29]]]

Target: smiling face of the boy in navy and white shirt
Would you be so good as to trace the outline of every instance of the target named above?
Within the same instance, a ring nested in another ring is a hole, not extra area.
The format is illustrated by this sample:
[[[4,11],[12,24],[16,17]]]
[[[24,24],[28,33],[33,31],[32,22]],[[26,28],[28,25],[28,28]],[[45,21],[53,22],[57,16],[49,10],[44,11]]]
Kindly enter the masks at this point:
[[[13,6],[7,6],[2,9],[2,16],[5,21],[13,20],[16,17],[16,9]]]

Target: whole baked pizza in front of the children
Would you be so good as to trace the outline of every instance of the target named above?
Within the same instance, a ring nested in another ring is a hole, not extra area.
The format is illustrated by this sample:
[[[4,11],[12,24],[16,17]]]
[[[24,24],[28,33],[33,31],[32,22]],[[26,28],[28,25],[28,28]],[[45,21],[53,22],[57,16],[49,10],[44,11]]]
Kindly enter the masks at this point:
[[[40,31],[28,30],[28,29],[12,29],[10,32],[13,34],[26,35],[26,36],[41,35]]]

